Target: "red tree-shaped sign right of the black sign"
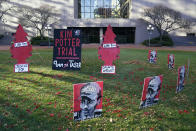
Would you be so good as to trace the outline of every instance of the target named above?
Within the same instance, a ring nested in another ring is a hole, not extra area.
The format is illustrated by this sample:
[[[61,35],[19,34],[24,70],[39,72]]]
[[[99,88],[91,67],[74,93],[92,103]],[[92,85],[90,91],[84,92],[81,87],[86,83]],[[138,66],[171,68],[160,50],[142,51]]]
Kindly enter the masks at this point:
[[[113,65],[113,61],[119,58],[120,48],[116,44],[116,35],[112,31],[112,27],[110,25],[107,27],[103,38],[103,43],[98,49],[99,59],[104,61],[101,73],[115,74],[116,68]]]

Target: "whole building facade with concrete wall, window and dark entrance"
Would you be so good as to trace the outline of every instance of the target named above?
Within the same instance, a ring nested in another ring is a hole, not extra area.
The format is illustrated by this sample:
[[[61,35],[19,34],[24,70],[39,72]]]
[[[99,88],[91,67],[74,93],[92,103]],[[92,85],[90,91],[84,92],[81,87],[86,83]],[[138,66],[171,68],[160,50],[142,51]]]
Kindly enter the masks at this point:
[[[58,24],[54,28],[81,29],[83,43],[100,43],[106,27],[110,24],[117,35],[117,43],[139,44],[148,39],[146,29],[149,23],[143,22],[145,8],[162,4],[184,16],[196,19],[196,0],[10,0],[9,4],[23,8],[51,6],[58,14]],[[15,32],[20,24],[20,14],[9,14],[1,26],[1,32]],[[35,29],[25,28],[30,36],[37,35]],[[173,35],[196,34],[196,27],[190,30],[171,32]],[[46,34],[47,35],[47,34]],[[52,36],[52,32],[50,34]],[[155,30],[152,37],[158,36]]]

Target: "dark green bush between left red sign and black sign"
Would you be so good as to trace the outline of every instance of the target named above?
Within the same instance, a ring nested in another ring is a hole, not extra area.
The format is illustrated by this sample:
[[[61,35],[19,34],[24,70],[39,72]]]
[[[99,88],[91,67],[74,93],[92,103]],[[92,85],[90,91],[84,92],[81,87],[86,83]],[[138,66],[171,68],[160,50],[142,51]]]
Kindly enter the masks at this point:
[[[49,38],[50,40],[50,45],[53,46],[54,40],[52,38]],[[40,36],[36,36],[36,37],[32,37],[31,40],[31,45],[41,45],[41,46],[48,46],[48,37],[43,37],[43,39],[41,39]]]

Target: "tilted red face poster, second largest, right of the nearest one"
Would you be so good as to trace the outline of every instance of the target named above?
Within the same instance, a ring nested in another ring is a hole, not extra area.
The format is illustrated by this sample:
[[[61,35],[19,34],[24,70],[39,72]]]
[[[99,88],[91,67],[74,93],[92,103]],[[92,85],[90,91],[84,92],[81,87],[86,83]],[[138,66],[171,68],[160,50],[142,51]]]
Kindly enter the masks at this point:
[[[140,108],[149,107],[158,102],[162,80],[162,75],[144,79]]]

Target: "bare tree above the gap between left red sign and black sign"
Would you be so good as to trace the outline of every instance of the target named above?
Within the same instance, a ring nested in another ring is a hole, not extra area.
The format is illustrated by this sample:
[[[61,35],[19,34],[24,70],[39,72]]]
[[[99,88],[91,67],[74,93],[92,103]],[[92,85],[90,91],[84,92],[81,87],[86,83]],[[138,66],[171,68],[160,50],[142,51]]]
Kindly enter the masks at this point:
[[[26,27],[35,28],[41,39],[44,37],[46,26],[48,24],[54,25],[58,22],[56,13],[53,12],[52,7],[42,5],[39,8],[23,8],[19,9],[22,16],[19,18],[21,25]]]

